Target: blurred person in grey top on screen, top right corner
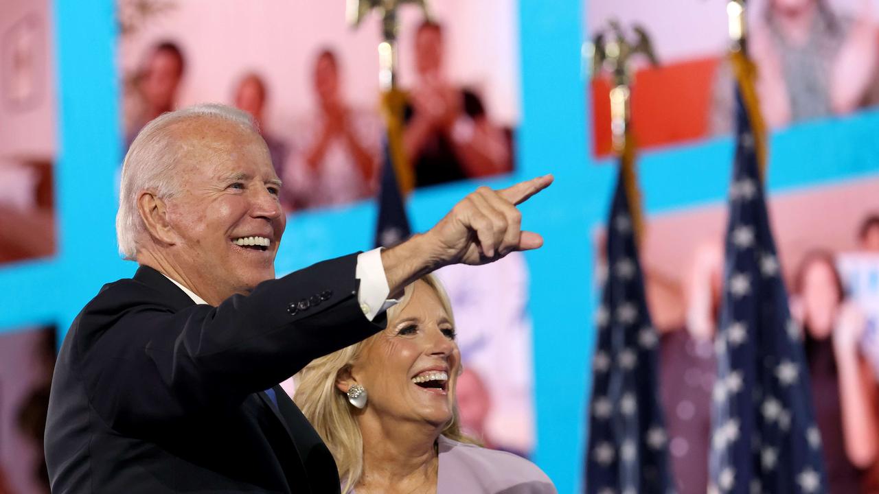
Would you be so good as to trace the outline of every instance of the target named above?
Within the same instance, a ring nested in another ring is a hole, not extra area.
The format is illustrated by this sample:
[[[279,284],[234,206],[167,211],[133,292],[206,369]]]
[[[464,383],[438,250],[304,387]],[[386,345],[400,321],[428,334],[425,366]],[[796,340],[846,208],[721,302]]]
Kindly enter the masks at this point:
[[[851,113],[879,103],[879,31],[870,0],[857,16],[839,15],[827,0],[766,0],[749,26],[760,110],[769,127]],[[710,125],[730,132],[732,77],[722,66]]]

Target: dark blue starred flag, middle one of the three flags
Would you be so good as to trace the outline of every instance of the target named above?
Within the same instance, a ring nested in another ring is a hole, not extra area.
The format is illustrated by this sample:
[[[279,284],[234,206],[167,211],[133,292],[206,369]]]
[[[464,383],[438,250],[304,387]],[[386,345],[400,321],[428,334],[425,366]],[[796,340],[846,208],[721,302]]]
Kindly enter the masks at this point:
[[[644,298],[623,170],[607,222],[607,278],[595,321],[585,492],[665,494],[673,487],[657,391],[659,341]]]

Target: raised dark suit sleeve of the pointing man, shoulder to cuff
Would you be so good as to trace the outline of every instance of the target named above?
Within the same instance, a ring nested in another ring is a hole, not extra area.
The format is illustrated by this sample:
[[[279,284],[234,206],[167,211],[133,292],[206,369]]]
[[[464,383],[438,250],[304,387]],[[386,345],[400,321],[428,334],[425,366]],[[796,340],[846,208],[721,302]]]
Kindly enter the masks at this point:
[[[384,317],[370,322],[360,309],[355,264],[354,255],[325,261],[216,308],[175,311],[134,282],[99,294],[76,327],[91,405],[120,431],[222,413],[367,338]]]

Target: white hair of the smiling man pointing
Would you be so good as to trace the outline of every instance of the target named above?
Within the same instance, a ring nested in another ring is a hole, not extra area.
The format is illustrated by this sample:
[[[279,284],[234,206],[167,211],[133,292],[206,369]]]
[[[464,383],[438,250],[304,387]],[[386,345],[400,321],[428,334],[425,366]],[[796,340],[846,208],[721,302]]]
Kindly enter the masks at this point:
[[[163,113],[143,127],[122,162],[116,236],[123,258],[136,258],[138,245],[146,232],[146,225],[137,211],[137,197],[143,191],[151,191],[160,198],[171,197],[179,192],[179,181],[174,168],[180,161],[185,146],[173,135],[171,127],[182,120],[194,119],[226,120],[258,133],[256,124],[248,113],[217,104],[194,105],[176,112]]]

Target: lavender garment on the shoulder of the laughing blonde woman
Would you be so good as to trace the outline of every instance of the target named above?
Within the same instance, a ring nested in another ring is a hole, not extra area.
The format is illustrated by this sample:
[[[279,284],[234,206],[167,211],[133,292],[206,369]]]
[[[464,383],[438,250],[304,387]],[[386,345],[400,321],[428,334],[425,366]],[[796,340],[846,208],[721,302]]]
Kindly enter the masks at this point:
[[[517,454],[439,437],[438,494],[501,492],[555,494],[556,487],[537,465]]]

